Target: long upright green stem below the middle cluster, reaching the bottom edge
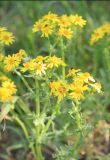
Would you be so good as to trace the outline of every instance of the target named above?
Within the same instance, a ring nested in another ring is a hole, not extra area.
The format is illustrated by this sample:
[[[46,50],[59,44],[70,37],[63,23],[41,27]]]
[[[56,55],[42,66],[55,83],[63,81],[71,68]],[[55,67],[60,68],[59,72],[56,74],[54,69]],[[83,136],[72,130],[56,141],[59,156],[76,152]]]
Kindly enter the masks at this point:
[[[35,81],[36,84],[36,114],[40,116],[40,88],[39,81]],[[37,126],[37,137],[36,137],[36,151],[39,160],[43,160],[42,150],[41,150],[41,140],[40,140],[40,126]]]

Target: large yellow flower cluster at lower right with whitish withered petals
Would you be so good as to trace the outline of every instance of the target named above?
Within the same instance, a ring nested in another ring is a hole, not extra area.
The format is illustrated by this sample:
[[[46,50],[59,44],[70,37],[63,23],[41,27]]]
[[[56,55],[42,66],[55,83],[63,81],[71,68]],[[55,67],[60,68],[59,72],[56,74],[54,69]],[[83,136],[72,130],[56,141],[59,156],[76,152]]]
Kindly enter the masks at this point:
[[[95,82],[88,72],[82,73],[80,69],[71,69],[67,78],[71,78],[72,82],[69,83],[68,79],[50,82],[51,94],[57,97],[58,101],[61,101],[64,97],[73,101],[80,101],[84,99],[86,92],[101,92],[101,84]]]

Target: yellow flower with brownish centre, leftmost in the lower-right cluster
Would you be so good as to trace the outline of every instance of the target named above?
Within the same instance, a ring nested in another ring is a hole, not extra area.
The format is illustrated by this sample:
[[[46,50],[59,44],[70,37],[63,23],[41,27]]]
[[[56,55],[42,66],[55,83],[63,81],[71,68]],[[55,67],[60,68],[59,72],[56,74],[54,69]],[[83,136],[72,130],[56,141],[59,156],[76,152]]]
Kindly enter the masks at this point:
[[[51,94],[58,98],[60,102],[67,95],[68,85],[63,81],[50,82]]]

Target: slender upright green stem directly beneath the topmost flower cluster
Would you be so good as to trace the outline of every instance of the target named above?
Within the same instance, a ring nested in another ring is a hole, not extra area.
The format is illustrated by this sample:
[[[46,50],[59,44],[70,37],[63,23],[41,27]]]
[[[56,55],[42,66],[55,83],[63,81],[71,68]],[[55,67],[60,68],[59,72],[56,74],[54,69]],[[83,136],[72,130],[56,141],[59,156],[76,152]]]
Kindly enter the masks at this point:
[[[61,39],[61,56],[62,56],[63,62],[65,63],[65,52],[64,52],[63,39]],[[65,79],[65,66],[62,66],[62,77],[63,79]]]

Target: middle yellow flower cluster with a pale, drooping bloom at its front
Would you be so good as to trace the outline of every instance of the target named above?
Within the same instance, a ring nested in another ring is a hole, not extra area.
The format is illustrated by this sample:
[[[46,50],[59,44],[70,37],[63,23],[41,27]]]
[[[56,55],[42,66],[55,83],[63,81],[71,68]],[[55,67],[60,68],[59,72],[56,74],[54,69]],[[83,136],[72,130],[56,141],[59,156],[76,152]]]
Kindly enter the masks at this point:
[[[29,71],[30,73],[38,76],[43,76],[46,74],[46,70],[65,65],[66,64],[61,60],[61,58],[56,56],[37,56],[36,58],[23,63],[21,71]]]

